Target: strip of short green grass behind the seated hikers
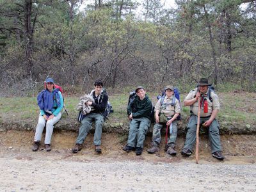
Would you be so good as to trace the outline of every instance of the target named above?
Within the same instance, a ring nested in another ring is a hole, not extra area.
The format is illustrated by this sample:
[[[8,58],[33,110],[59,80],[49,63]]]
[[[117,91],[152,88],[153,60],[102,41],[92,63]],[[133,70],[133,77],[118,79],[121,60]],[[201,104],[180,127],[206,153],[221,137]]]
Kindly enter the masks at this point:
[[[156,104],[157,93],[148,93],[150,99]],[[218,113],[219,122],[232,124],[256,124],[256,93],[218,93],[221,110]],[[127,119],[127,101],[129,93],[115,94],[109,96],[114,113],[111,113],[107,123],[113,125],[124,124],[128,122]],[[183,101],[186,94],[181,94],[180,98]],[[253,102],[254,101],[254,102]],[[69,119],[76,120],[78,111],[76,105],[79,102],[79,97],[65,97],[65,106],[68,110]],[[254,110],[254,111],[253,111]],[[182,106],[182,116],[189,116],[189,107]],[[36,104],[36,97],[15,97],[15,98],[1,98],[0,100],[0,122],[6,120],[26,120],[37,119],[39,109]],[[67,118],[63,113],[62,118]]]

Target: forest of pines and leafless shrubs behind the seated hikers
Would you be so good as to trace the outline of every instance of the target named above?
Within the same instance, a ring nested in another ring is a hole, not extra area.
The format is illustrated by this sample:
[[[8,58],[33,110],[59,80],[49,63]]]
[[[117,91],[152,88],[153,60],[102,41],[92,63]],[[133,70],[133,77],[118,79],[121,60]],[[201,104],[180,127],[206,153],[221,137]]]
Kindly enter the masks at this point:
[[[86,8],[81,9],[83,4]],[[70,91],[207,77],[256,92],[256,1],[0,0],[0,96],[31,96],[46,77]]]

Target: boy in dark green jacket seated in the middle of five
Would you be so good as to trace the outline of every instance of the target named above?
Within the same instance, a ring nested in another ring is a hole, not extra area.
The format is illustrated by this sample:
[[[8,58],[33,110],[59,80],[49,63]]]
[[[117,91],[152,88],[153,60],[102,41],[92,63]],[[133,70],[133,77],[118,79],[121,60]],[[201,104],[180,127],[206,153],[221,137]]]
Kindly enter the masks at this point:
[[[143,86],[138,86],[135,92],[135,99],[127,106],[130,129],[127,145],[125,145],[123,150],[126,152],[135,150],[136,155],[140,156],[143,152],[143,143],[151,123],[152,102],[148,95],[146,95]]]

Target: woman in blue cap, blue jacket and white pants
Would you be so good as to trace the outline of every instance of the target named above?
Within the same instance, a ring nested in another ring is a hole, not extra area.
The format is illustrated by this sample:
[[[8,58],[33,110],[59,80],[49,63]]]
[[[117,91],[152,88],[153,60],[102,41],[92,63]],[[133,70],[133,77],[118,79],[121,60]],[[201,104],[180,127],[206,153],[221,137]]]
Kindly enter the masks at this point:
[[[38,124],[36,125],[35,143],[32,150],[38,150],[42,132],[46,124],[45,132],[45,150],[51,151],[51,137],[53,125],[61,118],[61,109],[63,108],[63,97],[58,88],[54,88],[54,81],[52,78],[45,79],[46,87],[38,94],[37,102],[40,107],[40,115]]]

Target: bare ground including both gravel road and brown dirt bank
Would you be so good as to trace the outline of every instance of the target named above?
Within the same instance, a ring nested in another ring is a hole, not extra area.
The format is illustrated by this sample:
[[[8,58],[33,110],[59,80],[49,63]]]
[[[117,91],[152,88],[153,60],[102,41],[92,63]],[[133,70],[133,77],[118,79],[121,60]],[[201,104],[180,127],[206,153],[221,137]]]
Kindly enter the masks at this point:
[[[225,137],[225,138],[224,138]],[[121,150],[122,138],[104,134],[103,154],[95,154],[92,136],[72,154],[76,133],[55,133],[52,151],[31,151],[33,132],[0,133],[0,191],[255,191],[255,136],[222,136],[225,161],[211,157],[202,138],[195,157],[142,156]],[[249,140],[250,142],[246,142]],[[106,142],[108,141],[108,142]],[[232,143],[235,144],[232,144]],[[150,138],[147,138],[145,148]],[[177,143],[178,150],[183,139]],[[231,143],[231,144],[230,144]],[[248,143],[248,145],[245,145]],[[230,146],[229,146],[230,145]]]

